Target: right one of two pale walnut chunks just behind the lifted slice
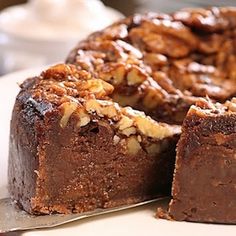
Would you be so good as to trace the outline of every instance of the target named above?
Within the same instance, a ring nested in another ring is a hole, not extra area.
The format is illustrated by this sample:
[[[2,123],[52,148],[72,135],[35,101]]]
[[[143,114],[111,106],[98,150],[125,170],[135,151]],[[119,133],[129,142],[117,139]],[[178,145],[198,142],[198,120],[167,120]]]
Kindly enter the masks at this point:
[[[139,85],[148,78],[148,75],[138,66],[132,66],[127,73],[127,84]]]

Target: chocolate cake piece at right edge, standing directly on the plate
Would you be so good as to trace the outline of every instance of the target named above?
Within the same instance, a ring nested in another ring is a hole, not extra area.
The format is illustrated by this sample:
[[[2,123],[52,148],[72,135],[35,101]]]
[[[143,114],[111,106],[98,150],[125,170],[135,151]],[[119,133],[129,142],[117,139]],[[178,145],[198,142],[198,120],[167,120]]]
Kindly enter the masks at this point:
[[[169,215],[174,220],[236,223],[236,100],[201,100],[184,120]]]

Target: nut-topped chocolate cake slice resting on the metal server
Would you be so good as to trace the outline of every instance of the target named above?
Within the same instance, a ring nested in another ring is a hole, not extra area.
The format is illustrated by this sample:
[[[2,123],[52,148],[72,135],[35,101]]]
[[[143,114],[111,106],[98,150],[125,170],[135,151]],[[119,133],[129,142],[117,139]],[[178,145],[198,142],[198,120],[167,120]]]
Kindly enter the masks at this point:
[[[179,126],[109,98],[71,65],[21,85],[10,133],[9,191],[32,214],[85,212],[170,194]]]

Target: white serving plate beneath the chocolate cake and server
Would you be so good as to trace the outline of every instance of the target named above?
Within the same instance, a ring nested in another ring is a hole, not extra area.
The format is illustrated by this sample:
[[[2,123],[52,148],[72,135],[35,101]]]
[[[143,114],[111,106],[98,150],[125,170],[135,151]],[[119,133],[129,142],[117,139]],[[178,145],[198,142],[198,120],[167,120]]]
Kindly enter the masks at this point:
[[[7,157],[11,110],[19,91],[17,83],[38,75],[42,68],[15,72],[0,77],[0,198],[7,197]],[[236,225],[174,222],[155,218],[160,203],[151,203],[116,213],[78,220],[47,230],[24,231],[13,235],[24,236],[235,236]],[[1,214],[1,212],[0,212]]]

